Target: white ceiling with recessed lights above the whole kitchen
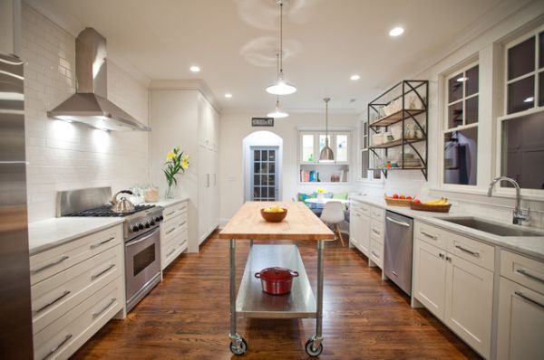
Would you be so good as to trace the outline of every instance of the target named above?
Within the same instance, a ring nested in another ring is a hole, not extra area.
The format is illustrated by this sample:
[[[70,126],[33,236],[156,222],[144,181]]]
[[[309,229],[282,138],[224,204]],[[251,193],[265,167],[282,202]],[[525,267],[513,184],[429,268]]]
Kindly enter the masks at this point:
[[[40,0],[50,14],[102,33],[150,79],[203,79],[227,111],[272,109],[276,80],[275,0]],[[489,12],[517,0],[286,0],[291,111],[362,110],[364,100],[438,61]],[[488,21],[489,23],[489,21]],[[405,33],[391,38],[401,25]],[[198,74],[189,66],[198,64]],[[361,75],[350,81],[350,75]],[[225,99],[224,93],[233,94]],[[356,99],[350,102],[350,99]]]

